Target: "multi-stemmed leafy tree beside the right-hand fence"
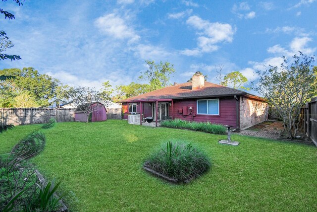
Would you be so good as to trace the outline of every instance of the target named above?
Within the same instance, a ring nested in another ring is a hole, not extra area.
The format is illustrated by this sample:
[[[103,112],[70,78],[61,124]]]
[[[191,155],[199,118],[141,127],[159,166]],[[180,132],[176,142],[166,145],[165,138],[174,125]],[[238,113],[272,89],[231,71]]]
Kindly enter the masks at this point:
[[[253,87],[261,93],[283,118],[288,137],[294,139],[299,130],[300,112],[303,105],[316,95],[316,70],[312,64],[314,57],[302,52],[289,61],[283,58],[280,67],[269,66],[265,71],[257,71],[259,79]]]

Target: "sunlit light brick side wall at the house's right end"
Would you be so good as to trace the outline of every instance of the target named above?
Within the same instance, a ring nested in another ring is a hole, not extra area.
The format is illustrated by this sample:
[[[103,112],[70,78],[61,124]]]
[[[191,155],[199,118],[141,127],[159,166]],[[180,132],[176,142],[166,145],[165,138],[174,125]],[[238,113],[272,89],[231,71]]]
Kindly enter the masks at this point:
[[[245,129],[266,120],[267,103],[240,96],[240,128]]]

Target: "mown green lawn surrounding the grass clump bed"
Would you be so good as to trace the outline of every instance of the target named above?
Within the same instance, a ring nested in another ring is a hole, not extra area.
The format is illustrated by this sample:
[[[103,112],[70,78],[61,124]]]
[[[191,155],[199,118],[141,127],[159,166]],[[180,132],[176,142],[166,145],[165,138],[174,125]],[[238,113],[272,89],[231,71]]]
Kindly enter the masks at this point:
[[[0,153],[38,126],[0,135]],[[317,148],[233,135],[239,146],[188,130],[147,128],[127,121],[57,123],[45,150],[32,159],[61,181],[72,211],[317,211]],[[211,170],[188,185],[171,185],[142,170],[162,142],[192,141]]]

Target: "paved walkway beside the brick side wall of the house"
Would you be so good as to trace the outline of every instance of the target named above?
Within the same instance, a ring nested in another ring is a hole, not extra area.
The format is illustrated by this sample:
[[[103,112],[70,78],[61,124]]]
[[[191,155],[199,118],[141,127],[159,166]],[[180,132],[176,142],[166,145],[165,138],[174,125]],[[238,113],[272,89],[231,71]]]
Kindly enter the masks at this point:
[[[241,130],[240,133],[233,133],[233,134],[254,136],[254,137],[261,137],[261,138],[268,138],[268,139],[278,139],[283,129],[284,129],[283,123],[274,122],[268,125],[267,127],[263,128],[259,132],[251,131],[251,130]]]

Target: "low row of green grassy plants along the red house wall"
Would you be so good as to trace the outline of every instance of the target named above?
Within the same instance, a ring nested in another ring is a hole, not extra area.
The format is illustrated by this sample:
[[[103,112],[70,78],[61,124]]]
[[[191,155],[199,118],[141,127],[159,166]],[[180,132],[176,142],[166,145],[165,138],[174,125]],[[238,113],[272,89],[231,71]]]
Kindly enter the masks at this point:
[[[205,133],[224,135],[226,128],[223,125],[211,124],[210,122],[189,122],[181,119],[167,120],[160,124],[161,127],[188,129]]]

